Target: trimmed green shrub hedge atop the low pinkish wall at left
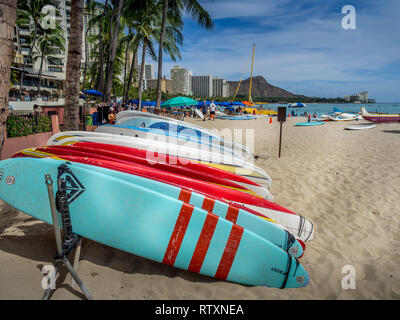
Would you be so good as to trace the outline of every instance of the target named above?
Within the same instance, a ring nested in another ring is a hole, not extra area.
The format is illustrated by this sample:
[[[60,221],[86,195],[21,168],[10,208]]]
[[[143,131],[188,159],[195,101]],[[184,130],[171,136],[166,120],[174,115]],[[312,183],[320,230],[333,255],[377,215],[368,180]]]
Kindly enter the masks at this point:
[[[7,137],[24,137],[31,134],[52,131],[51,117],[43,115],[9,116]]]

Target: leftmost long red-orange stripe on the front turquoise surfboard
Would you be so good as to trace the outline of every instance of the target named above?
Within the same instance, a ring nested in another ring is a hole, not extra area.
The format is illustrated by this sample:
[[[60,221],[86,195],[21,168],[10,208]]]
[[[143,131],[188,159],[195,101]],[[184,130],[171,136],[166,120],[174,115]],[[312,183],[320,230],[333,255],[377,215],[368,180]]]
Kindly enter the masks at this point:
[[[194,207],[190,204],[183,203],[178,219],[176,220],[174,231],[169,239],[167,250],[165,251],[162,263],[173,266],[178,256],[179,249],[185,236],[187,227]]]

